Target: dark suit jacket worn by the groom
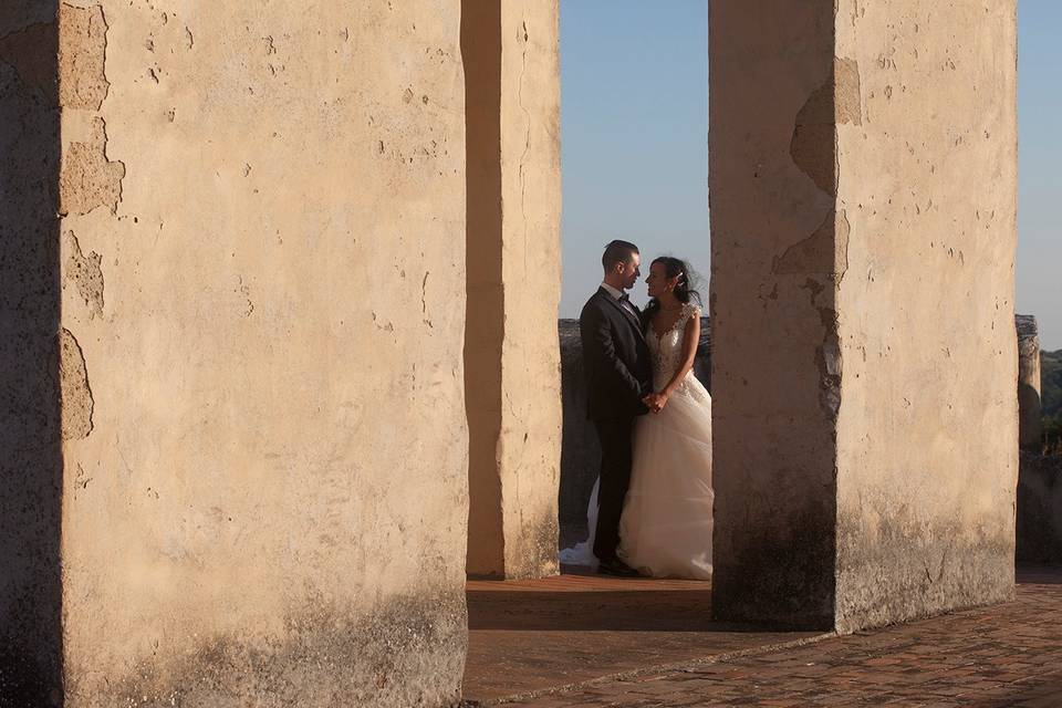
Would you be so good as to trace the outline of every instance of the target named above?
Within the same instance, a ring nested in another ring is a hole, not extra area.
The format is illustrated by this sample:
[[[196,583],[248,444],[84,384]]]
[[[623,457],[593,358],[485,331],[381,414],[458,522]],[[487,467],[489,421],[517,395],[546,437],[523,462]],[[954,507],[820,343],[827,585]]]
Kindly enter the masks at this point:
[[[635,313],[638,309],[631,305]],[[579,315],[587,417],[627,418],[648,413],[642,398],[653,393],[653,363],[641,313],[632,314],[604,288]]]

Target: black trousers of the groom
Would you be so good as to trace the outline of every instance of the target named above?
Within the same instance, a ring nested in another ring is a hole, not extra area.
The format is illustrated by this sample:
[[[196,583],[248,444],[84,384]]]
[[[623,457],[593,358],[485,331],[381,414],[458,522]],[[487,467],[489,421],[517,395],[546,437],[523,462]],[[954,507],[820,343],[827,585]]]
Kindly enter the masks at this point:
[[[620,545],[620,517],[631,487],[634,418],[594,420],[601,441],[601,481],[597,487],[597,530],[594,555],[601,561],[616,558]]]

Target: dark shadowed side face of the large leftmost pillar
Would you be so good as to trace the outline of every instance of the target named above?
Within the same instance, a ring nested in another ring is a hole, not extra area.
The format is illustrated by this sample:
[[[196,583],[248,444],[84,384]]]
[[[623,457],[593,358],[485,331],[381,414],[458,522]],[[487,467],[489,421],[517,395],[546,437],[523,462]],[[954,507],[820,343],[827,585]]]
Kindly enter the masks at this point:
[[[63,702],[56,12],[51,0],[0,4],[3,708]]]

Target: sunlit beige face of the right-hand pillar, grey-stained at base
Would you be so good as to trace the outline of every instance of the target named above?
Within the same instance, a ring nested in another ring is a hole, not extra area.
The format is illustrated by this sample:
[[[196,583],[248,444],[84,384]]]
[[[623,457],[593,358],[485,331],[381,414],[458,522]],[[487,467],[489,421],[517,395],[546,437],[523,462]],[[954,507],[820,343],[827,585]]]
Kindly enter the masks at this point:
[[[842,0],[837,626],[1008,598],[1016,3]],[[841,83],[839,77],[839,85]]]

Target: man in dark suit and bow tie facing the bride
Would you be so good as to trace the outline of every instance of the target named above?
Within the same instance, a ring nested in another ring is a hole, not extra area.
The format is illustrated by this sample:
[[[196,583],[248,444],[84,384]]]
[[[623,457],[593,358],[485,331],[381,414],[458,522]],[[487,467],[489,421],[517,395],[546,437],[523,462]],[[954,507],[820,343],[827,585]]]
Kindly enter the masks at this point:
[[[638,247],[613,241],[601,264],[604,282],[579,316],[586,371],[589,417],[601,441],[601,481],[597,489],[597,529],[594,555],[600,572],[634,576],[637,571],[616,556],[620,516],[631,485],[631,434],[636,416],[648,412],[642,399],[653,393],[649,350],[642,331],[642,313],[624,292],[641,271]]]

